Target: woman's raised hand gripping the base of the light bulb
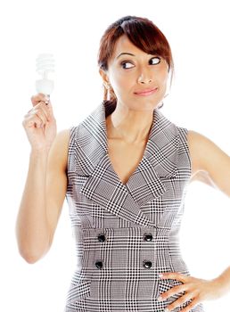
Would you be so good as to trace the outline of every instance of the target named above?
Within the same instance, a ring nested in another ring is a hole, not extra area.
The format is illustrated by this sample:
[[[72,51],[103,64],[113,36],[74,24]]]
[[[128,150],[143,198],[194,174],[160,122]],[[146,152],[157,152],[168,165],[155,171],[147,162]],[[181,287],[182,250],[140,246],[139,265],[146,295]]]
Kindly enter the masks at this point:
[[[31,96],[33,108],[28,111],[22,121],[33,151],[49,151],[57,135],[56,119],[53,116],[52,104],[48,105],[45,94]]]

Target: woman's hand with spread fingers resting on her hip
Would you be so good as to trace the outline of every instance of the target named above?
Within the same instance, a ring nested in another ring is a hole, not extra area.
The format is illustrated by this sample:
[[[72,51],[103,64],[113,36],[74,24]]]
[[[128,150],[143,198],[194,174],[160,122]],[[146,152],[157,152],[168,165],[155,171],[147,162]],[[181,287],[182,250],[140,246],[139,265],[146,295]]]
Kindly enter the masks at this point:
[[[180,310],[180,312],[189,312],[201,301],[215,300],[223,295],[221,283],[218,282],[217,278],[212,280],[205,280],[190,275],[183,275],[177,272],[167,272],[163,273],[162,275],[163,276],[161,277],[161,279],[176,279],[177,281],[183,283],[181,285],[172,287],[169,291],[162,292],[160,295],[162,300],[166,300],[168,297],[176,294],[177,292],[185,291],[185,294],[182,295],[179,299],[175,300],[170,305],[168,305],[168,309],[166,309],[165,311],[171,311],[174,308],[182,305],[184,302],[192,300],[191,303],[189,303],[185,308]]]

